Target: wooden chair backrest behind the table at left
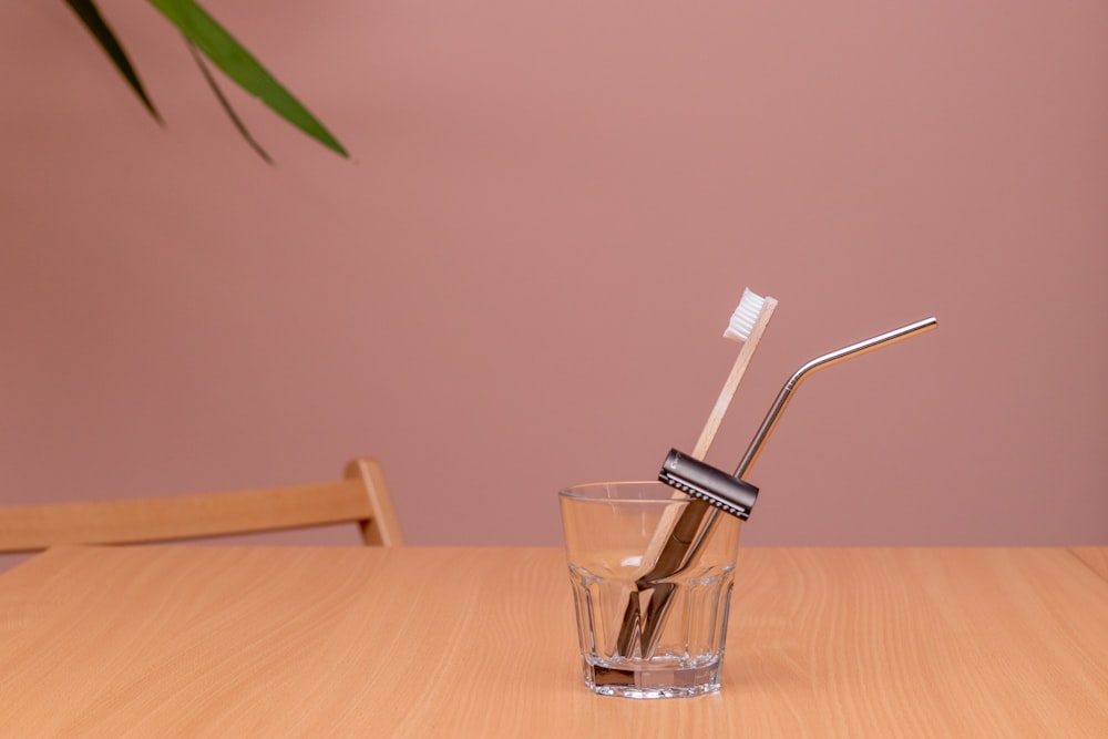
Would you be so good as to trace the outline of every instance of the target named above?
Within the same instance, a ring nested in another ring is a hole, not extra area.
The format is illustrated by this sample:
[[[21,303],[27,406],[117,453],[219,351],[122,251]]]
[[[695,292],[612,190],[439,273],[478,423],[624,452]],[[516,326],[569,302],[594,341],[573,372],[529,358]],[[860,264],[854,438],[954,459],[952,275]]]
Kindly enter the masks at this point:
[[[403,536],[381,466],[357,459],[345,479],[204,495],[0,507],[0,553],[57,544],[134,544],[357,523],[367,545]]]

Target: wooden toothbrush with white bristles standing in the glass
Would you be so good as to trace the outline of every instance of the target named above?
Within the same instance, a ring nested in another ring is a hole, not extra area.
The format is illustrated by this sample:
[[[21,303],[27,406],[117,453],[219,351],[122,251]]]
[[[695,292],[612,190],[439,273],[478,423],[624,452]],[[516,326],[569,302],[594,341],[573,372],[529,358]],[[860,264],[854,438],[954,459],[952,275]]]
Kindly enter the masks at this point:
[[[727,414],[731,400],[735,398],[735,392],[739,388],[739,382],[747,371],[747,366],[750,365],[750,359],[753,357],[755,350],[758,349],[762,333],[765,333],[770,318],[773,317],[774,308],[777,308],[777,300],[774,298],[768,296],[763,298],[750,288],[742,290],[742,298],[739,300],[739,306],[731,314],[731,319],[724,331],[724,338],[741,342],[742,348],[739,350],[739,356],[736,358],[735,365],[731,367],[731,371],[724,382],[724,388],[719,392],[719,398],[716,399],[716,404],[712,407],[711,413],[708,414],[708,420],[700,431],[696,447],[693,449],[693,456],[697,460],[702,460],[708,454],[708,449],[716,438],[719,424]],[[666,510],[661,521],[658,523],[658,530],[654,538],[650,540],[646,554],[643,556],[643,565],[638,573],[639,576],[636,579],[642,581],[650,573],[659,569],[659,567],[669,568],[680,564],[679,560],[675,562],[659,561],[659,557],[666,552],[666,543],[669,541],[670,533],[675,531],[679,513],[678,506],[670,506]],[[702,517],[702,513],[697,517],[698,522],[700,517]],[[623,624],[617,637],[616,654],[628,654],[634,640],[635,629],[640,624],[642,614],[639,613],[638,598],[635,594],[628,594]]]

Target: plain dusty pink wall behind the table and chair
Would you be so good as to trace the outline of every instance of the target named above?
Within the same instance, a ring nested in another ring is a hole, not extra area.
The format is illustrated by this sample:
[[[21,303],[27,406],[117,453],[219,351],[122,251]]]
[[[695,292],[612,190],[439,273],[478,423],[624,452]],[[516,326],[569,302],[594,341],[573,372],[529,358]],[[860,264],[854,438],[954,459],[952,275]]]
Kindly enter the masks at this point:
[[[414,544],[555,544],[691,448],[750,286],[724,466],[804,360],[941,326],[803,386],[747,543],[1108,544],[1105,3],[211,0],[353,153],[233,91],[273,168],[102,7],[164,130],[0,4],[0,503],[371,454]]]

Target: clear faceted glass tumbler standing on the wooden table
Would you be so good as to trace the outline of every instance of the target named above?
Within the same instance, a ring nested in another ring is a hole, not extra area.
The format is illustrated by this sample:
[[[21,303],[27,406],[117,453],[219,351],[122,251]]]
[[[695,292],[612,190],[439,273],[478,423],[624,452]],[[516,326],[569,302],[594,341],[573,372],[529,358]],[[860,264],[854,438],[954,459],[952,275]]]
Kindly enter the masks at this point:
[[[660,482],[573,485],[558,500],[588,688],[627,698],[718,690],[742,522]],[[659,574],[683,515],[702,522],[699,544]]]

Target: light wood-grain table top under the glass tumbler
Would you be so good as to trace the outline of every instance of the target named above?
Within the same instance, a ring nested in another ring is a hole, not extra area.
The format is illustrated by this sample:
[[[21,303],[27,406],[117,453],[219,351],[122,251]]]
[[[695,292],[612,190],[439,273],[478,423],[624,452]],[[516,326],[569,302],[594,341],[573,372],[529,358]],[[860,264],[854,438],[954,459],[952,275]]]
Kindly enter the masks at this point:
[[[0,736],[1108,737],[1105,563],[747,548],[722,690],[636,701],[557,548],[58,548],[0,576]]]

